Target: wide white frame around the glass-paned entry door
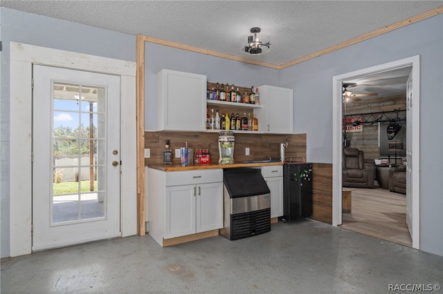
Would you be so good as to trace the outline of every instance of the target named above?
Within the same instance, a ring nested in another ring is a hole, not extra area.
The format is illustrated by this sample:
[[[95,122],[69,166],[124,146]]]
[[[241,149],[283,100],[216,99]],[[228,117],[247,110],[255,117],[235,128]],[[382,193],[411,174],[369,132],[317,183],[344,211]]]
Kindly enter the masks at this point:
[[[136,63],[10,42],[10,256],[32,252],[33,64],[120,76],[120,223],[136,235]]]

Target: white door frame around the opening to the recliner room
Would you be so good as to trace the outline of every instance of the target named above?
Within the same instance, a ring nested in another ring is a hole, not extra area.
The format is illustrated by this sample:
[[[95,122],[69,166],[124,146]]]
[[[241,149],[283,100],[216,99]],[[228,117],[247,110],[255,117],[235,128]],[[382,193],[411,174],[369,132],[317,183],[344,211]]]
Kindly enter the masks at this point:
[[[386,72],[389,70],[395,70],[397,68],[405,68],[412,66],[413,75],[413,130],[414,139],[413,144],[413,163],[414,167],[413,173],[413,183],[412,190],[408,191],[411,193],[413,199],[413,248],[419,249],[419,197],[420,197],[420,144],[419,144],[419,101],[420,101],[420,71],[419,71],[419,55],[408,57],[405,59],[400,59],[397,61],[392,61],[389,63],[383,63],[378,66],[372,66],[370,68],[363,68],[361,70],[356,70],[354,72],[347,72],[343,75],[337,75],[333,77],[332,87],[333,87],[333,139],[332,139],[332,225],[341,225],[342,220],[342,118],[343,118],[343,93],[342,93],[342,82],[350,79],[356,79],[358,77],[363,77],[365,75],[374,74],[377,72]]]

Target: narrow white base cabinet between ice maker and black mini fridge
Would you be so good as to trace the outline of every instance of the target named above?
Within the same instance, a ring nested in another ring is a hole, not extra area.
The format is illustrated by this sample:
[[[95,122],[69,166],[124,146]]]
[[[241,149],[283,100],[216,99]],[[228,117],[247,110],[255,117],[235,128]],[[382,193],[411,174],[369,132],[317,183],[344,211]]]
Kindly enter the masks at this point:
[[[271,191],[271,217],[283,215],[283,167],[262,166],[262,176]]]

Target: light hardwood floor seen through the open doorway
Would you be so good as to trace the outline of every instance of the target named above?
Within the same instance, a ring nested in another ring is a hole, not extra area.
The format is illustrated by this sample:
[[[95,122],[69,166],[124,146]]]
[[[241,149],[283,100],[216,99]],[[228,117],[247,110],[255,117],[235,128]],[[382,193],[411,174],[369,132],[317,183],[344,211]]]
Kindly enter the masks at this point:
[[[406,225],[406,195],[382,188],[352,190],[351,213],[343,213],[342,228],[404,246],[412,246]]]

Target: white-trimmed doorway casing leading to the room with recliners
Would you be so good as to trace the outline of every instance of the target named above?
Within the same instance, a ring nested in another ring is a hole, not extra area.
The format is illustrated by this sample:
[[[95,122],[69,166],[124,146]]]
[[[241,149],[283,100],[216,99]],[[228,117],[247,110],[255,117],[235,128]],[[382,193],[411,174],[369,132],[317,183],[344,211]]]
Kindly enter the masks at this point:
[[[355,72],[349,72],[344,75],[339,75],[333,79],[334,87],[334,146],[333,146],[333,199],[332,199],[332,224],[334,226],[341,225],[343,223],[342,216],[342,173],[341,173],[341,155],[343,150],[342,144],[342,83],[343,81],[349,81],[352,79],[358,79],[365,75],[373,75],[380,72],[388,72],[399,68],[411,67],[410,78],[408,79],[408,93],[410,92],[410,103],[415,105],[415,108],[408,108],[408,153],[410,153],[410,159],[407,160],[407,168],[410,170],[408,175],[408,191],[406,193],[407,208],[406,217],[410,217],[408,227],[410,235],[413,240],[413,248],[419,248],[419,56],[410,57],[407,59],[401,59],[399,61],[393,61],[390,63],[384,63],[372,68],[365,68],[363,70],[357,70]],[[411,82],[410,82],[411,81]],[[414,137],[413,137],[414,136]],[[414,154],[412,156],[412,150]],[[415,169],[412,168],[415,166]],[[410,186],[409,186],[410,185]],[[410,200],[410,201],[409,201]]]

